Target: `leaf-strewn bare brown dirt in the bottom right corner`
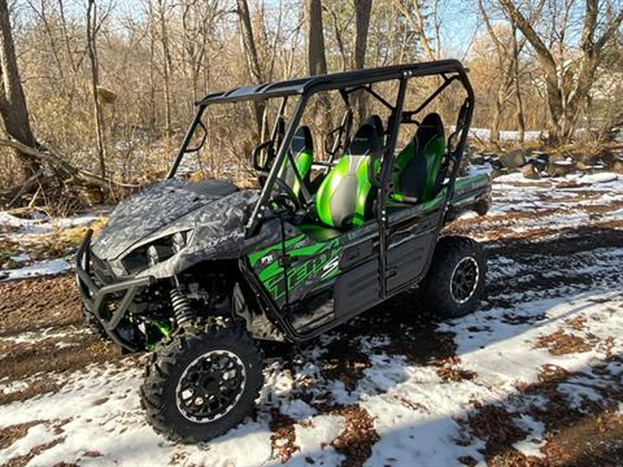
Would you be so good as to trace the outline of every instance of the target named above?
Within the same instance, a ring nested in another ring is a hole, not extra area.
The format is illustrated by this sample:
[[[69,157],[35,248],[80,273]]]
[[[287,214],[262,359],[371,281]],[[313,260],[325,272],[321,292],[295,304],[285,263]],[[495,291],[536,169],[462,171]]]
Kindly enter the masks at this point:
[[[615,358],[615,357],[613,357]],[[579,406],[571,405],[559,385],[589,387],[603,397],[602,401],[584,398]],[[476,406],[467,420],[467,429],[486,443],[485,457],[489,466],[621,466],[623,465],[623,415],[618,410],[623,400],[619,376],[599,363],[582,372],[568,372],[557,365],[544,365],[538,381],[518,383],[518,394],[510,401],[521,410],[509,412],[505,403]],[[546,401],[543,403],[534,401]],[[545,425],[543,458],[525,457],[513,444],[525,438],[518,428],[519,413],[532,416]],[[473,465],[473,459],[458,459]]]

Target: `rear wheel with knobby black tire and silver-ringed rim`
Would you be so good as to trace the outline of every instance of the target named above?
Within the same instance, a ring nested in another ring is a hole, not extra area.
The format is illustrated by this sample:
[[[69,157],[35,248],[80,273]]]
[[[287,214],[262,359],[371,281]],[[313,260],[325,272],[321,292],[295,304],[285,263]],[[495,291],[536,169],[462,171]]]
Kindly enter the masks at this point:
[[[487,260],[478,242],[467,237],[442,237],[422,284],[427,306],[446,318],[474,311],[485,289]]]

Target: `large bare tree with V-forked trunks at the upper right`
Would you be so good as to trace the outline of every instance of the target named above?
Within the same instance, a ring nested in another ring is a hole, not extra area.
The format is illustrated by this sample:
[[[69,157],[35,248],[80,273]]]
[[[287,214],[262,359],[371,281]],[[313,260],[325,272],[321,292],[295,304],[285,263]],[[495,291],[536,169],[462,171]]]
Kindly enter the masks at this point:
[[[581,31],[581,56],[575,63],[577,71],[574,71],[566,64],[563,54],[554,56],[552,48],[545,44],[545,37],[537,32],[532,21],[515,3],[511,0],[499,1],[508,17],[530,42],[543,67],[552,120],[552,139],[569,140],[595,81],[595,73],[602,62],[604,47],[613,39],[623,22],[623,9],[616,15],[605,15],[601,34],[596,37],[601,22],[598,20],[599,4],[597,0],[586,0],[584,25]],[[567,6],[570,8],[569,3]],[[559,44],[563,47],[563,40],[560,40]]]

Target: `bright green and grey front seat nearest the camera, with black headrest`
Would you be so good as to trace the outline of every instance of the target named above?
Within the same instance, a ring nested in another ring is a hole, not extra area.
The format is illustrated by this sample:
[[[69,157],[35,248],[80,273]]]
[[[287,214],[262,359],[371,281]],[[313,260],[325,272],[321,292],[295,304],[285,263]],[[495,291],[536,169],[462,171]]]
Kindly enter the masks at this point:
[[[318,188],[316,212],[326,226],[347,230],[361,226],[372,217],[368,167],[376,149],[379,149],[377,129],[364,123]]]

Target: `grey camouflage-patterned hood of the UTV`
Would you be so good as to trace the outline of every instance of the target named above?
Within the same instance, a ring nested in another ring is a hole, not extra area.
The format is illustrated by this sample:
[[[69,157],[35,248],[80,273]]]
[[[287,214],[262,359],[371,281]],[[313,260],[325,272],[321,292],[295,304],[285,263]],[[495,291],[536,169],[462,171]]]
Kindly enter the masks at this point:
[[[215,210],[223,210],[224,206],[217,203],[212,209],[212,205],[232,194],[237,194],[237,187],[222,181],[188,183],[170,179],[156,183],[119,203],[93,241],[93,253],[100,259],[116,259],[147,237],[158,237],[160,230],[183,229],[178,223],[195,226],[195,217],[222,221],[223,212]]]

